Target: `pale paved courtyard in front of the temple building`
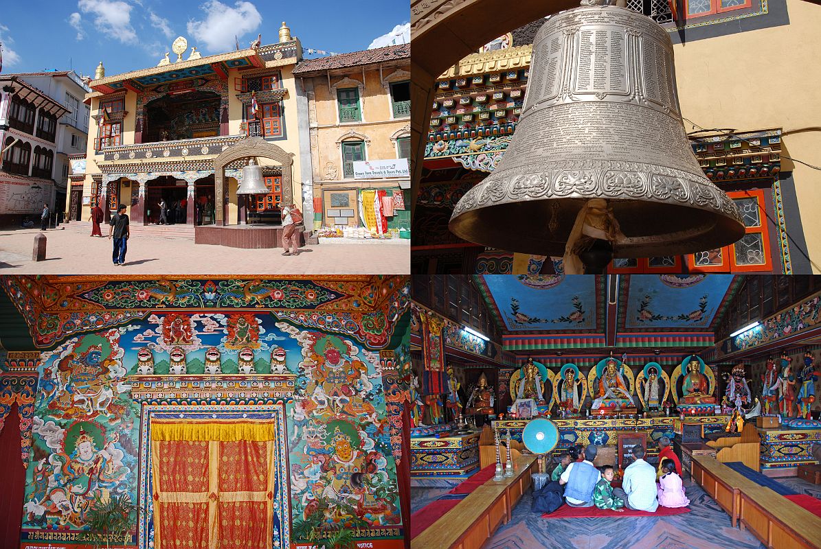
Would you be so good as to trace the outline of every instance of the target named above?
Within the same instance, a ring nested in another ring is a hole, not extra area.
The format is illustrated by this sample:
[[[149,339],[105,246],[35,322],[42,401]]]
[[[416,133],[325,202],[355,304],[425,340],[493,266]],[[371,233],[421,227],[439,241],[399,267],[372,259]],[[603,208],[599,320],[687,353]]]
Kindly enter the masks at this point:
[[[410,240],[320,243],[297,256],[284,250],[195,245],[193,239],[135,234],[126,265],[112,264],[112,242],[79,231],[53,229],[46,260],[34,262],[36,229],[0,231],[0,272],[25,274],[406,274]]]

